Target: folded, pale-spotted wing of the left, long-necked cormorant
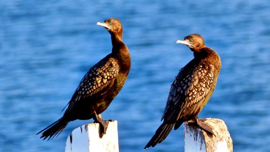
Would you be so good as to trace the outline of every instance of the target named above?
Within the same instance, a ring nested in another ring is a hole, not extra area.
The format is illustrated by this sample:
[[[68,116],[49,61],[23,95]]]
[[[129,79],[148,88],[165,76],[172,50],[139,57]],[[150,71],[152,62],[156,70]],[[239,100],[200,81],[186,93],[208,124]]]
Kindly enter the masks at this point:
[[[105,57],[84,75],[79,86],[73,94],[66,111],[73,109],[80,100],[96,94],[104,94],[114,84],[119,72],[118,61],[115,58]]]

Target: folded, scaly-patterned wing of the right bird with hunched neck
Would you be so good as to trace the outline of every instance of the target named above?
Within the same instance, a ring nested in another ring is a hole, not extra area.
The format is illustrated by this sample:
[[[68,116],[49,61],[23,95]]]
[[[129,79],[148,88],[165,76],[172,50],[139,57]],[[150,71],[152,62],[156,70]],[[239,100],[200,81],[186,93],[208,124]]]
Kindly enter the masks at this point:
[[[192,69],[192,70],[190,70]],[[175,78],[162,116],[165,123],[175,123],[192,115],[212,88],[214,66],[199,62],[183,67]]]

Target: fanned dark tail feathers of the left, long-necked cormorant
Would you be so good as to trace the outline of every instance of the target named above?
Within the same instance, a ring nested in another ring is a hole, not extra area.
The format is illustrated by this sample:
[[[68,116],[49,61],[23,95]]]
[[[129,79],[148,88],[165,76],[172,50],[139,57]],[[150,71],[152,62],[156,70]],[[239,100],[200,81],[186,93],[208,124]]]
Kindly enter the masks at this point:
[[[46,138],[49,137],[48,138],[49,140],[50,138],[53,138],[56,135],[58,136],[69,122],[70,121],[60,118],[59,120],[52,123],[48,127],[44,128],[42,131],[38,132],[37,135],[44,131],[40,138],[44,138],[43,140],[45,140]]]

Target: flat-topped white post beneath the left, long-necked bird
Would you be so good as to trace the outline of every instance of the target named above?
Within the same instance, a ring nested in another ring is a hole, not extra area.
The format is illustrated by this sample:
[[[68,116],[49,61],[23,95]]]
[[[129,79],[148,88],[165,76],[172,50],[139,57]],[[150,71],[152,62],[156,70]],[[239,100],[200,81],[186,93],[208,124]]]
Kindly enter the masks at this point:
[[[119,152],[117,121],[109,122],[106,134],[99,138],[99,124],[86,124],[72,131],[66,139],[65,152]]]

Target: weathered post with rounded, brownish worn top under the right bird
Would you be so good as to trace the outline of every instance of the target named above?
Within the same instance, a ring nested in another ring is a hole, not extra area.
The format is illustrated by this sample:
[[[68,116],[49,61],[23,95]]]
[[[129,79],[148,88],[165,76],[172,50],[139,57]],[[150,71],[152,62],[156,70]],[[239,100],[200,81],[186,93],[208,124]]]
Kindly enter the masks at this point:
[[[213,129],[216,136],[201,130],[194,125],[184,123],[185,152],[191,151],[228,151],[232,152],[232,139],[224,121],[209,118],[204,122]]]

